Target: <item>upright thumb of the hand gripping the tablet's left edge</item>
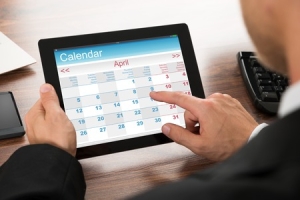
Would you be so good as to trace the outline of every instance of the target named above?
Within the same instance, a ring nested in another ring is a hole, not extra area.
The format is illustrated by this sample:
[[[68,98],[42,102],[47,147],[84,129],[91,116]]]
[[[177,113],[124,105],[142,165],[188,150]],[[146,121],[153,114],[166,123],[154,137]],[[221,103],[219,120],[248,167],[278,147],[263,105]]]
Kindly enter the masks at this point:
[[[43,84],[40,87],[40,96],[42,105],[47,112],[55,111],[60,108],[57,94],[50,84]]]

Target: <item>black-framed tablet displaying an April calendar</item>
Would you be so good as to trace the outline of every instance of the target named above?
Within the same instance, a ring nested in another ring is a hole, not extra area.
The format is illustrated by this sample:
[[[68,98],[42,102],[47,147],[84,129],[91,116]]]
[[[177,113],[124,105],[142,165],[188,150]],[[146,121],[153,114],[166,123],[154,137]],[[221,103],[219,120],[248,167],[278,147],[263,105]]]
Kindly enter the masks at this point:
[[[75,127],[77,158],[170,142],[161,127],[184,127],[184,109],[151,91],[204,98],[186,24],[42,39],[39,50]]]

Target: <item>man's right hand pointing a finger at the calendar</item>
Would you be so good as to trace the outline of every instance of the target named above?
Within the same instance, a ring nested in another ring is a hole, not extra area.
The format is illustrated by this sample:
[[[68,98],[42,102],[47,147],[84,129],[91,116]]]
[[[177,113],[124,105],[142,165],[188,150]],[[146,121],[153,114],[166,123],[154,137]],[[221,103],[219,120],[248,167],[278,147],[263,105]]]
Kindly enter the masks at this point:
[[[258,125],[240,102],[216,93],[199,99],[179,92],[151,92],[157,101],[184,109],[186,128],[165,124],[162,132],[178,144],[213,161],[221,161],[243,146]],[[200,126],[195,127],[196,124]]]

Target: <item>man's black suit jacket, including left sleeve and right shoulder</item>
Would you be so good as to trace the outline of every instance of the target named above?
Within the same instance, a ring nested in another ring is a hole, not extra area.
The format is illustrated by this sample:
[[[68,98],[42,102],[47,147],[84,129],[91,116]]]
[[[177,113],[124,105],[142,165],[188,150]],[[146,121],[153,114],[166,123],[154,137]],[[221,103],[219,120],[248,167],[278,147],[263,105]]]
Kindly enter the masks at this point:
[[[134,199],[300,199],[299,127],[300,110],[264,128],[228,160]],[[84,192],[79,163],[49,145],[21,148],[1,167],[0,199],[83,199]]]

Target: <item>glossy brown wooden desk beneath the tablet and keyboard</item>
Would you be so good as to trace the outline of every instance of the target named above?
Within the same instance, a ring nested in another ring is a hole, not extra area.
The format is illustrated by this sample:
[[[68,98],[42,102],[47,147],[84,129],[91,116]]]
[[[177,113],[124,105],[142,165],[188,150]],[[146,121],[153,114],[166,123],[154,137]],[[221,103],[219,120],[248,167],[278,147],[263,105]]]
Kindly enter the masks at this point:
[[[1,0],[0,31],[37,63],[0,75],[0,91],[14,93],[24,122],[26,112],[39,97],[39,86],[44,83],[39,39],[181,22],[190,27],[206,96],[214,92],[230,94],[258,122],[271,121],[253,107],[237,65],[238,51],[254,50],[238,0]],[[0,141],[0,165],[27,144],[26,136]],[[213,164],[174,143],[80,163],[87,182],[86,199],[129,197]]]

